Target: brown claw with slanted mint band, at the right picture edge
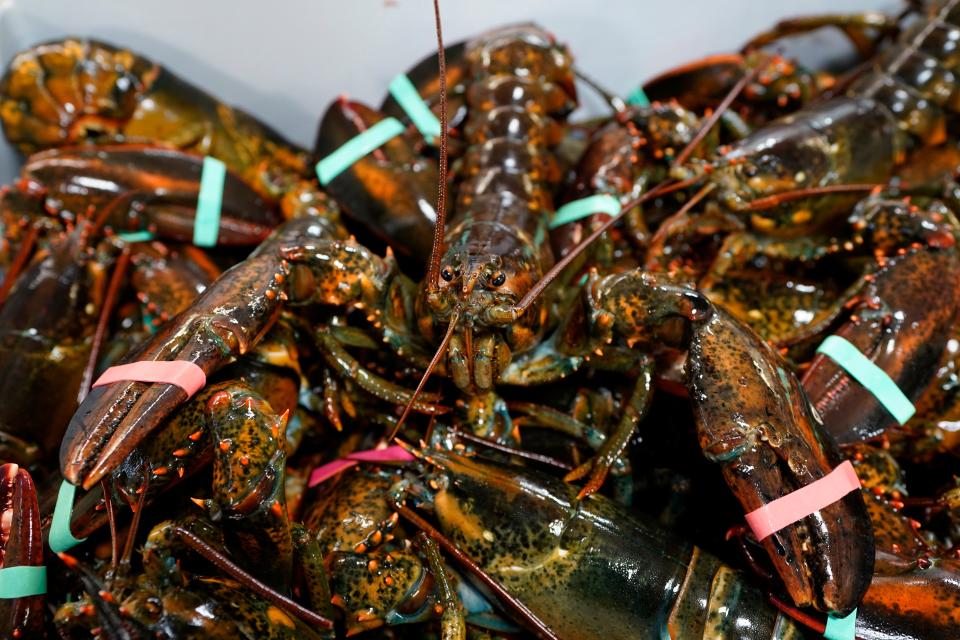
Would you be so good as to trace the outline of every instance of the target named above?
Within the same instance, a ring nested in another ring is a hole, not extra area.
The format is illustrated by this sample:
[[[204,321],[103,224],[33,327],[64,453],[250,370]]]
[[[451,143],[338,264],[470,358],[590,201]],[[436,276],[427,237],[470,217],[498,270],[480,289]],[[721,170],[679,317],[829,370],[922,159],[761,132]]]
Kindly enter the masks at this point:
[[[934,284],[936,283],[936,284]],[[953,249],[892,258],[867,282],[861,309],[836,333],[916,401],[936,373],[960,306],[960,258]],[[803,388],[841,443],[882,433],[894,422],[876,397],[836,362],[818,354]]]

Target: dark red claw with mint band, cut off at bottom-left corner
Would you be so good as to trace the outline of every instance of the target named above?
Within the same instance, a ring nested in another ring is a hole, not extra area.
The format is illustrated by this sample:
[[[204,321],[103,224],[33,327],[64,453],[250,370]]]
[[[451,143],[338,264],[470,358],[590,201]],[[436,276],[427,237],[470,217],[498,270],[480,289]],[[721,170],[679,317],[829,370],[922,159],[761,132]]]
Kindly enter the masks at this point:
[[[43,538],[37,490],[27,470],[0,466],[0,568],[43,566]],[[43,595],[0,598],[0,635],[42,637]]]

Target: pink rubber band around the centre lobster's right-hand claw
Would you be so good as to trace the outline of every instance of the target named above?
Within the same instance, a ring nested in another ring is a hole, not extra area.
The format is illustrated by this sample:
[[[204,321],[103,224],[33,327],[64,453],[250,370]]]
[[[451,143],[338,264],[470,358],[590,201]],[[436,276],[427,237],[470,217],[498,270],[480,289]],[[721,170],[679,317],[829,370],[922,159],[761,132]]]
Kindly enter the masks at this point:
[[[747,524],[757,540],[830,506],[851,491],[860,488],[860,479],[849,460],[816,482],[788,493],[747,514]]]

